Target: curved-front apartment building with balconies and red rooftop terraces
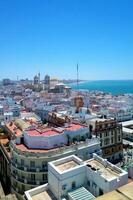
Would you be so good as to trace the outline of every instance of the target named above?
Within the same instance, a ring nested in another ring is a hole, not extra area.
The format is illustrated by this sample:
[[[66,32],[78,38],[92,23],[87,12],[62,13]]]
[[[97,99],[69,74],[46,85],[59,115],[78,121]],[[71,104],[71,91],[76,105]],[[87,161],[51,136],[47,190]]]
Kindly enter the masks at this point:
[[[88,127],[72,123],[64,128],[40,126],[11,141],[12,192],[22,199],[24,191],[47,183],[50,161],[72,154],[83,160],[94,152],[101,154],[99,140],[88,139],[89,134]]]

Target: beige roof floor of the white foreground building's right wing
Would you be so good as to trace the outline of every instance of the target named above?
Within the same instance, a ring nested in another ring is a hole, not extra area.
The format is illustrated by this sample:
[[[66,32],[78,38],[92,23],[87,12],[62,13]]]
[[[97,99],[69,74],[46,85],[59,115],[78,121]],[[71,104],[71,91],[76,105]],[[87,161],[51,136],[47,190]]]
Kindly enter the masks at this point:
[[[111,180],[114,178],[119,177],[119,172],[111,168],[110,166],[104,166],[100,161],[98,160],[88,160],[87,166],[91,167],[92,170],[94,171],[99,171],[100,175],[105,178],[106,180]]]

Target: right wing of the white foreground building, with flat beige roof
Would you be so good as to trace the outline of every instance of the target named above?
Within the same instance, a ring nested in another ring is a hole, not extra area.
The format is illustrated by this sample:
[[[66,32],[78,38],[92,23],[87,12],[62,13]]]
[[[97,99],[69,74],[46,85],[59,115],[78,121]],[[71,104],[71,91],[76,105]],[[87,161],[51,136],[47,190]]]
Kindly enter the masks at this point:
[[[87,163],[87,185],[94,196],[113,191],[127,184],[128,173],[106,159],[94,155]]]

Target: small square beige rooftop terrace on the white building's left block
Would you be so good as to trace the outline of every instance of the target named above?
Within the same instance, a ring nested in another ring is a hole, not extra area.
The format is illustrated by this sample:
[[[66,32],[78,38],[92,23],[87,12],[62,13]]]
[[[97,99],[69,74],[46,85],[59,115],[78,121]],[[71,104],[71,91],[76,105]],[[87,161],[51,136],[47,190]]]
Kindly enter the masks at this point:
[[[69,160],[69,161],[61,163],[61,164],[56,164],[55,166],[61,172],[64,172],[64,171],[72,169],[72,168],[74,168],[74,167],[76,167],[78,165],[79,165],[79,163],[77,163],[75,160]]]

